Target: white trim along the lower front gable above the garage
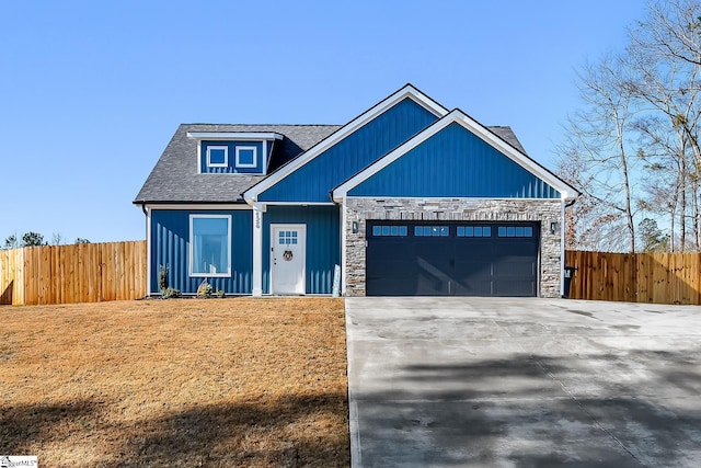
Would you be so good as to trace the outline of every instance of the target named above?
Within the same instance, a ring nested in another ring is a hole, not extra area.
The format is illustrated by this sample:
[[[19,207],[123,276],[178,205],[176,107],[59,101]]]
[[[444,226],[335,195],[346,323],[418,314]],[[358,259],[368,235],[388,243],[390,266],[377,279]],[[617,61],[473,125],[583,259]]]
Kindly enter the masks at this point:
[[[370,176],[377,174],[382,169],[387,168],[392,162],[397,161],[399,158],[404,156],[406,152],[416,148],[422,142],[426,141],[428,138],[436,135],[438,132],[446,128],[448,125],[452,123],[458,123],[462,125],[466,129],[468,129],[473,135],[481,138],[487,145],[497,149],[504,156],[512,159],[514,162],[519,164],[521,168],[526,169],[531,174],[541,179],[543,182],[555,189],[561,193],[561,197],[563,199],[573,199],[577,196],[577,191],[568,185],[566,182],[554,175],[552,172],[544,169],[542,165],[530,159],[528,156],[524,155],[512,145],[504,141],[502,138],[496,136],[493,132],[489,130],[484,126],[480,125],[472,117],[456,109],[451,111],[448,115],[443,117],[440,121],[436,122],[432,126],[425,128],[423,132],[414,136],[412,139],[407,140],[403,145],[399,146],[393,151],[387,153],[384,157],[380,158],[372,164],[368,165],[365,170],[358,172],[353,178],[348,179],[343,184],[338,185],[333,190],[333,201],[335,203],[343,202],[343,198],[347,196],[348,192],[353,190],[355,186],[365,182]]]

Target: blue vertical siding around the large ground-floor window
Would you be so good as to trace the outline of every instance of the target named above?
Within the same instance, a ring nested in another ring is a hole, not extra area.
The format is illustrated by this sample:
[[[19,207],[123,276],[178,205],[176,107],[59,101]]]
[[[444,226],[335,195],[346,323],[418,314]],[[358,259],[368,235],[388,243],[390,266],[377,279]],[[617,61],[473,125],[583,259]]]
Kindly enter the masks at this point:
[[[231,277],[207,278],[212,288],[227,294],[251,294],[253,237],[251,210],[175,210],[151,212],[151,285],[158,293],[160,265],[169,265],[169,284],[183,294],[197,293],[204,277],[188,276],[189,215],[231,215]]]

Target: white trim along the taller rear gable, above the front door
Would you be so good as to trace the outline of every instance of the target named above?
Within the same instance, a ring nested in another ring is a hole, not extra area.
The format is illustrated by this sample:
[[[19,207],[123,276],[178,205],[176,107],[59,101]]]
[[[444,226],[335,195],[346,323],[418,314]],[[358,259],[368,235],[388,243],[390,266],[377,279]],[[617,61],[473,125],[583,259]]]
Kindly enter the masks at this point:
[[[302,165],[304,165],[306,163],[308,163],[309,161],[311,161],[312,159],[314,159],[315,157],[318,157],[319,155],[321,155],[322,152],[331,148],[332,146],[336,145],[338,141],[343,140],[348,135],[353,134],[363,125],[372,121],[375,117],[384,113],[387,110],[391,109],[393,105],[395,105],[397,103],[399,103],[400,101],[406,98],[416,102],[417,104],[420,104],[421,106],[423,106],[424,109],[426,109],[428,112],[430,112],[437,117],[443,117],[448,113],[448,110],[445,109],[443,105],[438,104],[436,101],[428,98],[426,94],[422,93],[413,85],[406,84],[404,88],[397,91],[394,94],[384,99],[379,104],[375,105],[370,110],[360,114],[358,117],[350,121],[348,124],[344,125],[338,130],[336,130],[325,139],[321,140],[320,142],[318,142],[317,145],[308,149],[307,152],[304,152],[297,159],[294,159],[288,164],[284,165],[279,171],[273,173],[269,178],[258,182],[256,185],[249,189],[243,194],[243,199],[245,199],[249,204],[256,203],[257,197],[261,193],[265,192],[266,190],[268,190],[269,187],[272,187],[273,185],[281,181],[283,179],[285,179],[287,175],[291,174],[292,172],[295,172],[296,170],[298,170],[299,168],[301,168]]]

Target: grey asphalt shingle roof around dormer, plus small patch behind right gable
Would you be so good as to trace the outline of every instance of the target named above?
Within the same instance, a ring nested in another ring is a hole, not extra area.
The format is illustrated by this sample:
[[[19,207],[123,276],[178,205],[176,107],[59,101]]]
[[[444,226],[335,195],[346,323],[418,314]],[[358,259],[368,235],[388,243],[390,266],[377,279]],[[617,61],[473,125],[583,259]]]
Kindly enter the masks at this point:
[[[340,125],[182,124],[165,147],[134,203],[244,203],[241,194],[267,175],[197,173],[197,140],[188,132],[246,132],[284,135],[275,142],[271,172],[341,128]],[[510,127],[487,127],[526,153]]]

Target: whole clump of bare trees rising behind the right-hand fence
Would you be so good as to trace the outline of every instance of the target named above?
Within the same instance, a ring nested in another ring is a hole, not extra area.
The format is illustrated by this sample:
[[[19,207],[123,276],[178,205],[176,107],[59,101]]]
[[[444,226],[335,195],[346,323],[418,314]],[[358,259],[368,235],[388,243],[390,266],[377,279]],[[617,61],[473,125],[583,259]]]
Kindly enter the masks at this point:
[[[629,33],[624,52],[584,67],[583,109],[558,149],[563,176],[582,164],[571,183],[590,205],[571,210],[571,238],[620,248],[623,231],[635,251],[635,219],[652,216],[670,231],[666,248],[699,249],[701,1],[655,2]]]

